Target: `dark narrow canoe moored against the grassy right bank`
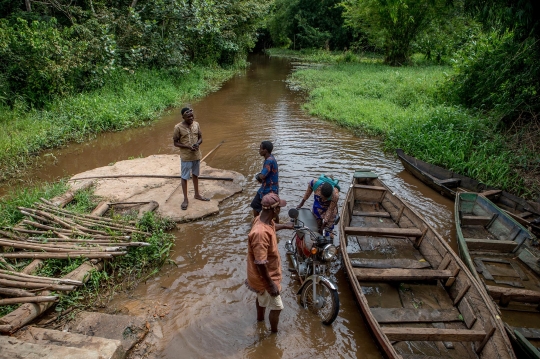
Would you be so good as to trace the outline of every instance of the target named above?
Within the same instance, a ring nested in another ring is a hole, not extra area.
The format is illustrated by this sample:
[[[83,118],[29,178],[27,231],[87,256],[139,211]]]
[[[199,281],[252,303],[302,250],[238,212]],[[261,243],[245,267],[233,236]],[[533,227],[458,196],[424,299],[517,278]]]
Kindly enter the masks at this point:
[[[511,193],[487,186],[472,178],[421,161],[406,155],[399,148],[396,153],[407,171],[443,196],[455,200],[458,189],[467,192],[478,192],[508,212],[512,218],[526,226],[533,233],[540,235],[540,202],[527,201]]]

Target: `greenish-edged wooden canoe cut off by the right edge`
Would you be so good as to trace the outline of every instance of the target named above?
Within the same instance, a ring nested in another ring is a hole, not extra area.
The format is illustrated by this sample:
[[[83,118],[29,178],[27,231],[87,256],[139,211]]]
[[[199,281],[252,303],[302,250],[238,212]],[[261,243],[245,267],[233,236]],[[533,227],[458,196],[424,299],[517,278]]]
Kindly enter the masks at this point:
[[[498,301],[516,352],[540,359],[540,250],[534,245],[536,237],[476,193],[458,193],[455,206],[461,258]],[[529,312],[526,328],[512,326],[511,311]]]

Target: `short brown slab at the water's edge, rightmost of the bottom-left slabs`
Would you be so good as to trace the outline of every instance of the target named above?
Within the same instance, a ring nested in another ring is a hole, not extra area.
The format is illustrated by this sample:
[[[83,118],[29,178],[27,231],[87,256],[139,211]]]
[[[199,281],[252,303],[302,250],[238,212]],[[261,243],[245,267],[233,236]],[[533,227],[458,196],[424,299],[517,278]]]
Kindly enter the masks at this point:
[[[119,340],[125,351],[130,350],[148,332],[145,319],[130,315],[81,312],[75,322],[71,332]]]

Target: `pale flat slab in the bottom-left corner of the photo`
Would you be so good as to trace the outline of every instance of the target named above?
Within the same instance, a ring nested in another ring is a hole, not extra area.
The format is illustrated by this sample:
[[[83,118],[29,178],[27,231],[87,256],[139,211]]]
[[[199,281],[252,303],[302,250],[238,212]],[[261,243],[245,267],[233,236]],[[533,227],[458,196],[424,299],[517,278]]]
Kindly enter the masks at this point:
[[[0,359],[104,359],[95,350],[34,344],[0,335]]]

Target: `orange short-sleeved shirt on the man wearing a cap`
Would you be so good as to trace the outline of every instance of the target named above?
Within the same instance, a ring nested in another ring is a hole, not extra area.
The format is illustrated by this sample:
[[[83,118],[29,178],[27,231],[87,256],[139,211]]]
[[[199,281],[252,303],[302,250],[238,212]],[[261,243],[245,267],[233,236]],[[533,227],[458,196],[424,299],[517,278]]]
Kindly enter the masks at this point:
[[[257,269],[257,264],[266,264],[270,278],[281,291],[281,257],[276,237],[276,226],[261,222],[260,217],[253,220],[248,235],[247,279],[245,284],[253,292],[264,293],[268,283]]]

